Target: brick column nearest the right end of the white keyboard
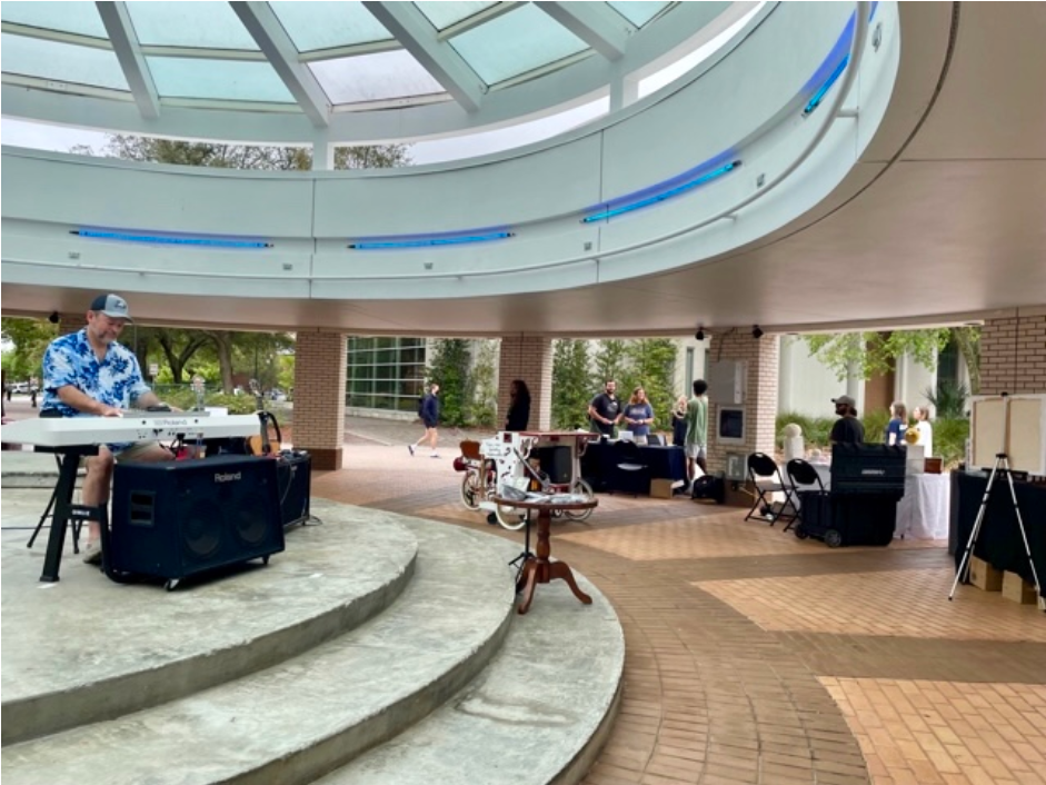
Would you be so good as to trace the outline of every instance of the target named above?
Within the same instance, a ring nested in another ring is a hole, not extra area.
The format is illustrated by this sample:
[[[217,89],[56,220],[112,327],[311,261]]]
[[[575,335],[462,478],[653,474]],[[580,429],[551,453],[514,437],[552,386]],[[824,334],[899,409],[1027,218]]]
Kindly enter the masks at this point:
[[[298,332],[295,348],[296,449],[312,468],[341,468],[345,446],[346,338],[339,332]]]

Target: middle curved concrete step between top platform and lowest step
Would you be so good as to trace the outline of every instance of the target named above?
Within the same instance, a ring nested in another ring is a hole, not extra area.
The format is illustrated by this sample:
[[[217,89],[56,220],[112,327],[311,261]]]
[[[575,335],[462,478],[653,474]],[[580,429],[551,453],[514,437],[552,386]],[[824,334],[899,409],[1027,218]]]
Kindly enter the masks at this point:
[[[330,516],[329,510],[317,511]],[[109,722],[4,746],[4,785],[298,785],[426,717],[477,677],[508,633],[515,589],[506,544],[442,524],[361,513],[382,518],[373,525],[402,524],[419,544],[414,578],[385,613],[235,682]],[[318,527],[325,533],[331,528],[329,523]],[[346,562],[350,556],[347,549]],[[243,577],[227,582],[230,590],[245,597],[265,590],[261,585],[243,586]],[[298,588],[308,592],[306,583]],[[189,602],[193,594],[160,593],[155,600],[183,597],[186,613],[200,629],[215,624],[217,618],[208,622],[196,612]],[[266,592],[273,605],[283,598],[282,592]],[[235,617],[227,613],[220,618],[232,624]],[[148,638],[146,630],[139,632]]]

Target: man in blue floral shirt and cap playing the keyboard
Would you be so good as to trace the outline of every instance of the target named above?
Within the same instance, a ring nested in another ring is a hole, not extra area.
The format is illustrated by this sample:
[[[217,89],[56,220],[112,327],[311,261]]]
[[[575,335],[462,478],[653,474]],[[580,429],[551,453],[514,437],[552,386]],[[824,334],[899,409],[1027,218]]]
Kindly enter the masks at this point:
[[[99,295],[87,311],[87,327],[51,341],[43,355],[41,417],[120,417],[123,409],[161,406],[141,375],[135,352],[117,338],[131,320],[127,300]],[[117,460],[155,463],[173,459],[157,443],[102,445],[87,459],[82,501],[100,507],[109,503],[112,467]],[[91,521],[83,560],[101,562],[99,524]]]

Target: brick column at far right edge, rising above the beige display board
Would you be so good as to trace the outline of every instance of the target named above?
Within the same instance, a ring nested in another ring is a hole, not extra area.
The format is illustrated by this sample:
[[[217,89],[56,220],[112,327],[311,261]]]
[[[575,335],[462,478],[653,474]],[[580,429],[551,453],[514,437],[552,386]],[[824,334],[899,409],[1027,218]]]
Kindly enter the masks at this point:
[[[987,319],[980,330],[980,394],[1046,392],[1046,306]]]

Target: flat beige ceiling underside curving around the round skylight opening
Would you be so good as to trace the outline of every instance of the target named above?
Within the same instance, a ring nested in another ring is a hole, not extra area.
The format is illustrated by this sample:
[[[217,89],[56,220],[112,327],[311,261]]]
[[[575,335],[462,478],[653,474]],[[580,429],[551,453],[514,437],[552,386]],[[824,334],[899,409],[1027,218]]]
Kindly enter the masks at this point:
[[[1046,305],[1046,14],[900,3],[900,70],[860,162],[816,208],[706,264],[562,292],[405,301],[222,298],[227,325],[411,335],[640,335],[943,321]],[[6,314],[79,311],[83,289],[3,284]],[[208,301],[136,311],[215,324]],[[259,316],[263,315],[263,319]]]

